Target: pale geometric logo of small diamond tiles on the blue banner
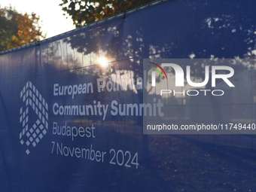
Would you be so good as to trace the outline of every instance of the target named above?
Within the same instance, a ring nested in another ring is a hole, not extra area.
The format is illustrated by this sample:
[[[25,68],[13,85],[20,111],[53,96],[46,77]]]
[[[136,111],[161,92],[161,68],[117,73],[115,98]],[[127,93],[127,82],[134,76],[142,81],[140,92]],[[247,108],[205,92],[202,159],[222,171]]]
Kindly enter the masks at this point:
[[[26,154],[29,154],[30,148],[35,148],[47,133],[48,104],[30,81],[20,92],[20,98],[23,99],[23,106],[20,108],[20,123],[23,125],[23,130],[20,133],[20,143],[27,146]],[[29,115],[32,115],[29,113],[31,109],[38,118],[35,123],[29,123]]]

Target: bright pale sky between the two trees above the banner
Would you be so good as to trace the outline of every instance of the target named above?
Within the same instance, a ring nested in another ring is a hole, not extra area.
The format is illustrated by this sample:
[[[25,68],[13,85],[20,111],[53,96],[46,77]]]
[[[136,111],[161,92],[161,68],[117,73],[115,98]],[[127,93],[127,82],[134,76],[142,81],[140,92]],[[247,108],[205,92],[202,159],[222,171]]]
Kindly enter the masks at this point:
[[[59,6],[60,3],[62,3],[61,0],[8,0],[1,1],[0,6],[5,8],[11,5],[21,14],[35,13],[40,17],[41,31],[47,34],[46,38],[50,38],[75,29],[71,17],[66,19],[63,15],[64,11]]]

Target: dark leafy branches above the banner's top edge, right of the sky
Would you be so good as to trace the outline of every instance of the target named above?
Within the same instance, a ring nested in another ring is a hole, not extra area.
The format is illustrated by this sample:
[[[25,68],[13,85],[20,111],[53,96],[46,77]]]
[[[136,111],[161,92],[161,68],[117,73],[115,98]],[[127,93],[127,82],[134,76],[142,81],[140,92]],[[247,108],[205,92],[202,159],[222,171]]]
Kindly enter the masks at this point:
[[[72,16],[75,26],[80,27],[149,2],[154,0],[62,0],[59,6]]]

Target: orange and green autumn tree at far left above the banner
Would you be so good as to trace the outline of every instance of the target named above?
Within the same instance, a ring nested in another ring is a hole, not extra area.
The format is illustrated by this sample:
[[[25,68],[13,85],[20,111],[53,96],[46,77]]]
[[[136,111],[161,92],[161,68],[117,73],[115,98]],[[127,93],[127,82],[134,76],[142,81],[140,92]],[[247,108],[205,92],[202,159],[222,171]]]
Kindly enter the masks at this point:
[[[20,14],[13,8],[0,8],[0,51],[45,38],[36,14]]]

